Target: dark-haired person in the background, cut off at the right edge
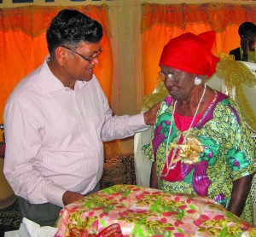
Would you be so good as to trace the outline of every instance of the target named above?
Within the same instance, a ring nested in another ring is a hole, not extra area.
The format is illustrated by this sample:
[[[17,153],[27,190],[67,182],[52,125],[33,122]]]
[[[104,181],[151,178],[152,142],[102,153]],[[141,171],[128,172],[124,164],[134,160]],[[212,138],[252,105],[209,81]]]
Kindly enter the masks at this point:
[[[241,47],[232,49],[230,55],[235,55],[236,61],[256,62],[254,43],[256,38],[256,26],[253,22],[243,22],[238,33],[241,40]]]

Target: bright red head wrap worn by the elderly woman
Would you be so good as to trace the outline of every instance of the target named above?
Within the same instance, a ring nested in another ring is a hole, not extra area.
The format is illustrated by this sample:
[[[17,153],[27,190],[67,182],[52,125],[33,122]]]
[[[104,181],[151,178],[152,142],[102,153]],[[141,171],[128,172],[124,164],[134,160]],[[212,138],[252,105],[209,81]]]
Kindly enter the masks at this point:
[[[198,36],[184,33],[177,38],[172,38],[163,49],[160,65],[211,77],[219,61],[218,57],[212,55],[215,37],[216,32],[212,31]]]

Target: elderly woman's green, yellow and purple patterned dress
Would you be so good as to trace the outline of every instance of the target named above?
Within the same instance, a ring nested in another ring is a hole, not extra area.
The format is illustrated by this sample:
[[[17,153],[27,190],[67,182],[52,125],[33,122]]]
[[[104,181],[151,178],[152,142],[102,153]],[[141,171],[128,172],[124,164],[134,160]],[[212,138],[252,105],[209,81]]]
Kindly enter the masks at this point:
[[[151,143],[144,147],[144,152],[149,159],[156,162],[161,190],[208,196],[227,208],[233,181],[256,171],[255,153],[253,140],[250,139],[249,130],[239,116],[240,111],[236,102],[218,91],[215,93],[215,98],[206,113],[189,131],[189,136],[195,138],[202,147],[202,151],[198,153],[199,163],[186,165],[183,159],[172,166],[176,167],[170,170],[167,176],[163,176],[163,170],[166,169],[166,143],[172,118],[170,95],[166,96],[162,103]],[[178,130],[174,121],[168,151],[175,151],[176,145],[173,144],[177,144],[187,132],[188,130]],[[178,153],[179,149],[176,149],[176,152]],[[172,155],[168,156],[169,159],[171,157]],[[177,157],[174,157],[175,159]],[[171,160],[167,163],[170,164]],[[168,178],[173,174],[177,177],[176,180]],[[253,222],[250,195],[241,218],[249,223]]]

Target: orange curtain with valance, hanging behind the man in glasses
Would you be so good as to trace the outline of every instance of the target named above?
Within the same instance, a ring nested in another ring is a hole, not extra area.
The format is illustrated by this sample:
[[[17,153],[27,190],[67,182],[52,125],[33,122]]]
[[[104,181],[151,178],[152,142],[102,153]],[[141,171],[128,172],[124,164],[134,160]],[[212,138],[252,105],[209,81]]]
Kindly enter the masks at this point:
[[[4,106],[15,85],[49,55],[45,33],[50,21],[61,9],[67,7],[32,5],[0,9],[0,123],[3,123]],[[102,4],[68,9],[77,9],[102,24],[102,55],[95,74],[108,101],[111,101],[113,55],[108,7]],[[108,143],[105,150],[107,155],[119,153],[119,142]]]

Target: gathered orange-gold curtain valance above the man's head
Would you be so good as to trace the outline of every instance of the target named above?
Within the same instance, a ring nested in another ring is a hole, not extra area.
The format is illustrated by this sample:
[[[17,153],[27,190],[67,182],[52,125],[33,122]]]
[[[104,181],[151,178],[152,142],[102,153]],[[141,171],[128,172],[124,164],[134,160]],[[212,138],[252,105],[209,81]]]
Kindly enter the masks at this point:
[[[102,24],[103,31],[111,37],[110,23],[108,19],[108,6],[86,5],[77,7],[51,7],[51,6],[27,6],[15,9],[0,9],[0,30],[22,31],[27,35],[37,37],[40,33],[45,32],[49,26],[50,20],[61,9],[77,9],[84,14],[89,15],[92,19]]]

